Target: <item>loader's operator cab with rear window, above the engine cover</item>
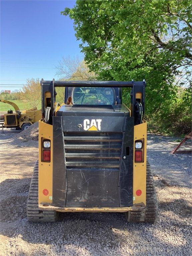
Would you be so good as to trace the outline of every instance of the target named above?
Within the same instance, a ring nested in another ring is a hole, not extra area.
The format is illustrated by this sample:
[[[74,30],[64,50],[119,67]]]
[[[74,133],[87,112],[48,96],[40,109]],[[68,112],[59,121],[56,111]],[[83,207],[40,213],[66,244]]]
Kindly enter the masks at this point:
[[[111,87],[66,87],[65,104],[58,111],[57,116],[68,115],[67,112],[116,112],[121,115],[130,109],[121,105],[121,88]],[[71,99],[70,99],[71,98]],[[69,99],[71,102],[69,103]],[[112,114],[111,113],[111,114]],[[75,114],[74,114],[75,115]],[[94,114],[93,114],[94,115]]]

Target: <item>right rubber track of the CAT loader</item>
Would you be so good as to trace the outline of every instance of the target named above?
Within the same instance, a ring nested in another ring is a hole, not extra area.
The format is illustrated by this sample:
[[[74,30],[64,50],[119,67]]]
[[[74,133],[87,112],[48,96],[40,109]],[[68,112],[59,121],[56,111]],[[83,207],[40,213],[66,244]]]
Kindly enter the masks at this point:
[[[130,223],[155,223],[158,216],[157,195],[153,174],[149,162],[147,161],[147,187],[146,187],[146,208],[144,210],[131,210],[125,213],[127,221]]]

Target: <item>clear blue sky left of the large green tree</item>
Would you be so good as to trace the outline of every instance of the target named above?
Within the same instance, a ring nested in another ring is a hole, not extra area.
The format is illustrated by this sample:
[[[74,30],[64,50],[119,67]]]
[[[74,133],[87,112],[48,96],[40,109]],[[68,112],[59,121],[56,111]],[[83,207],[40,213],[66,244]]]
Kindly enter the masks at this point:
[[[82,56],[73,21],[61,16],[75,1],[1,1],[0,84],[25,84],[27,78],[57,79],[62,56]],[[4,87],[1,90],[20,89]]]

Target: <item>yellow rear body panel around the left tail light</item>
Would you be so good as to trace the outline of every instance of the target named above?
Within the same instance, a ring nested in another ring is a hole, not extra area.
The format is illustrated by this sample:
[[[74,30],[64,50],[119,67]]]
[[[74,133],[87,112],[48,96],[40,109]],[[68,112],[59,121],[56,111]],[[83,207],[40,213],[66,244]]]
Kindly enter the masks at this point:
[[[51,161],[41,161],[41,141],[48,139],[51,141]],[[52,203],[53,191],[53,126],[39,121],[39,203]],[[47,189],[49,194],[45,196],[43,190]]]

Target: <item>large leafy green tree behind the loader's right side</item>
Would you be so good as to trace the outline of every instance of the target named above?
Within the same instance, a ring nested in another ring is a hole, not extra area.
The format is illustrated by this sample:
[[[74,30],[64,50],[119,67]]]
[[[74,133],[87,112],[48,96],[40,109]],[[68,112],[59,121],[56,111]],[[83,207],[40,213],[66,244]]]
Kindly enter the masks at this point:
[[[188,132],[191,1],[76,1],[61,14],[74,20],[85,61],[99,79],[145,79],[149,123],[157,131]],[[189,87],[182,96],[180,85]],[[123,99],[129,100],[125,91]]]

